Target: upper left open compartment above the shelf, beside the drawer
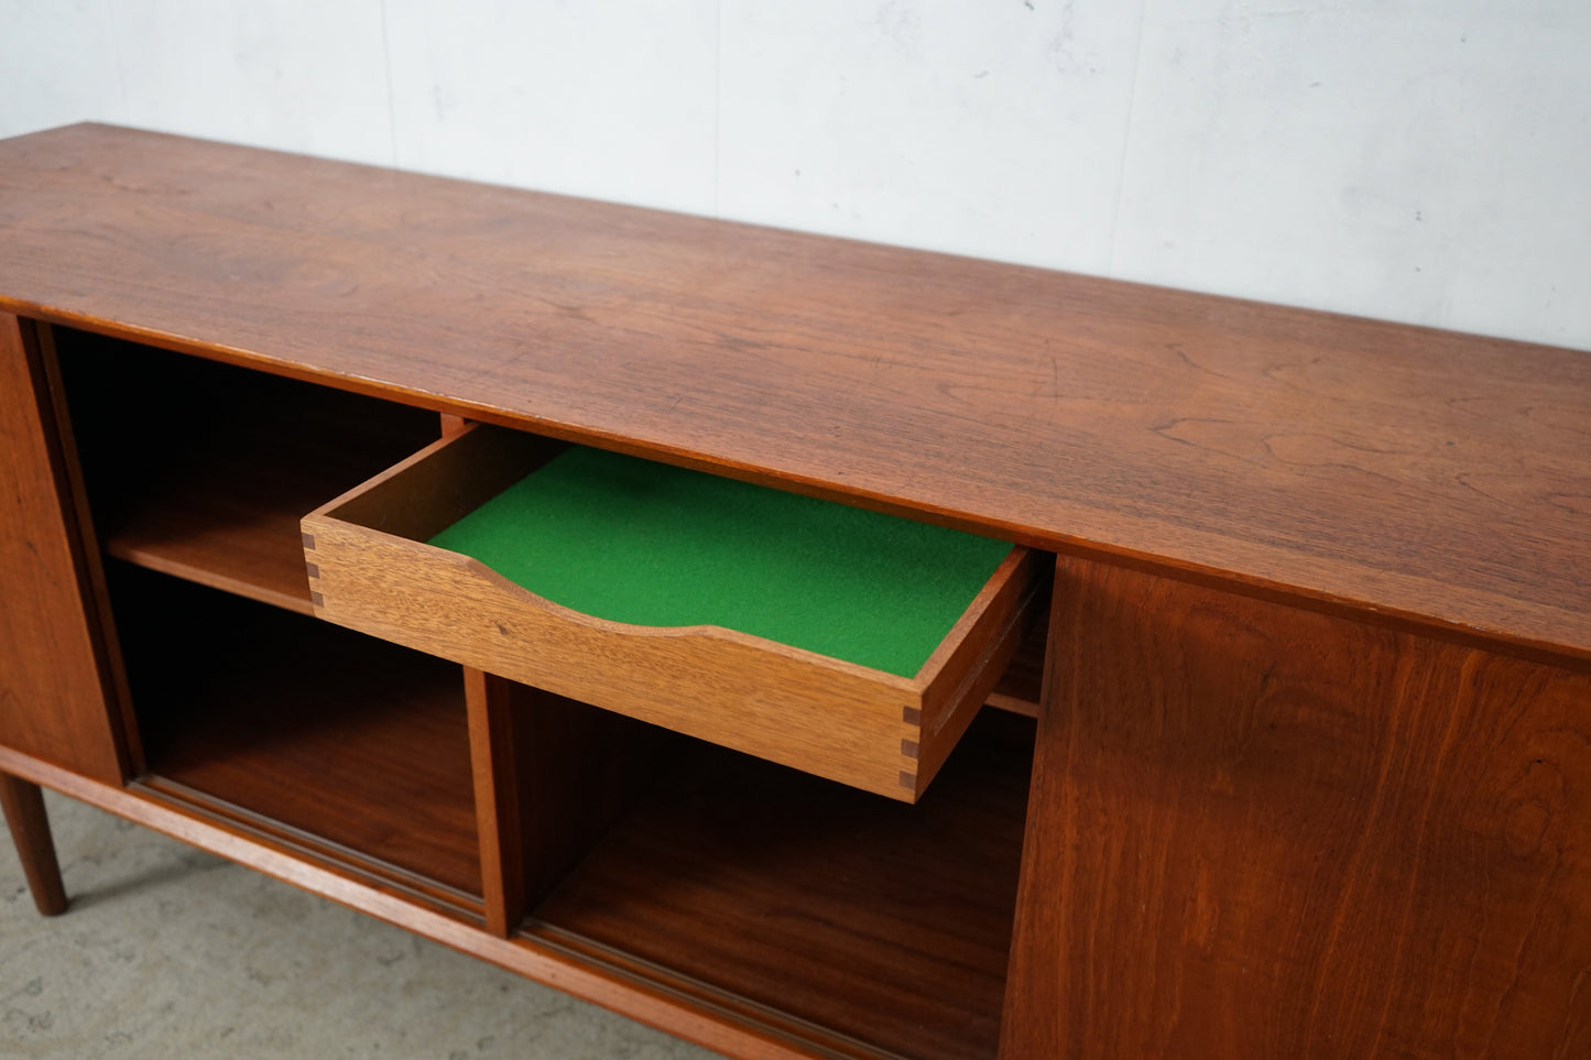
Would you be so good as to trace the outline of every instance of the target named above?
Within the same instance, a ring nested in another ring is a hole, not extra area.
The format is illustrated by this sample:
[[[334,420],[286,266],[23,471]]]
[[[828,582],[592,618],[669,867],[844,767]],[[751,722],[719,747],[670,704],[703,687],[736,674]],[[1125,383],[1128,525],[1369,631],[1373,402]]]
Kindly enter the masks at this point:
[[[105,552],[304,614],[299,519],[439,433],[418,409],[56,334]]]

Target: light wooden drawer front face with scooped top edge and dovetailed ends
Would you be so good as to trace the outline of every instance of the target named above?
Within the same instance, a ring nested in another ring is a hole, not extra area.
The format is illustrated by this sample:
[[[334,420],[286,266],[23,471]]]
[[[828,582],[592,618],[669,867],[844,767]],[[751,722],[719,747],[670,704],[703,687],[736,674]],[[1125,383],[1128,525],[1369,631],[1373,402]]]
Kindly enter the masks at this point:
[[[476,560],[331,516],[307,517],[304,533],[315,543],[305,557],[317,613],[329,622],[878,794],[912,794],[901,742],[921,726],[902,711],[920,692],[905,678],[729,630],[601,622]]]

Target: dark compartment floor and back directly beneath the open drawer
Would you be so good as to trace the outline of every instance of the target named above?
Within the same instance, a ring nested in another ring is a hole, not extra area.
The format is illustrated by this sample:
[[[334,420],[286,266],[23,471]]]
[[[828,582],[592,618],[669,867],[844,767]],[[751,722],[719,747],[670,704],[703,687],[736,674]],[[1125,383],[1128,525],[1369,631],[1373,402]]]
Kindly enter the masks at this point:
[[[826,1049],[993,1057],[1031,753],[985,710],[908,807],[690,742],[525,934]]]

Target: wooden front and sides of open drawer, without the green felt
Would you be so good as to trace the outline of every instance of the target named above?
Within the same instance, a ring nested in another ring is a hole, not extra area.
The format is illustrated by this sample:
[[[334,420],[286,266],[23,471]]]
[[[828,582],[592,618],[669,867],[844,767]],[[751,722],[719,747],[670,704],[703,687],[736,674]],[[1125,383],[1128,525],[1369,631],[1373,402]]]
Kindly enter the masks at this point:
[[[557,449],[473,428],[307,516],[317,614],[878,794],[921,794],[1020,641],[1033,554],[1012,549],[904,678],[738,630],[581,614],[425,543]]]

